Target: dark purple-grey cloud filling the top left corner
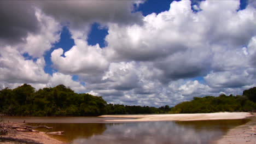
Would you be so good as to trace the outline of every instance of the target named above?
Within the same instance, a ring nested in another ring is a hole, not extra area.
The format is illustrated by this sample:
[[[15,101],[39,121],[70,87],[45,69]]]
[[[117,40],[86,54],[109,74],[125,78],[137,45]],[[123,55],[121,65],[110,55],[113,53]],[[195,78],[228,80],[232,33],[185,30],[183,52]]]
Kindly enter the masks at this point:
[[[38,31],[38,21],[31,2],[0,1],[0,43],[22,41],[28,32]]]

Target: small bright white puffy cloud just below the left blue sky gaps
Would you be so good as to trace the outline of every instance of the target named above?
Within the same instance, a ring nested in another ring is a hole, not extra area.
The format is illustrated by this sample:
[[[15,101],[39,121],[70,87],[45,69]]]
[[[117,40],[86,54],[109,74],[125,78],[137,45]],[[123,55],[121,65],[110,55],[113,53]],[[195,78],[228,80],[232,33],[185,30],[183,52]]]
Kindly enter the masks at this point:
[[[109,63],[98,44],[89,46],[83,39],[74,39],[74,43],[75,46],[65,53],[61,48],[51,53],[56,69],[69,74],[94,74],[108,68]]]

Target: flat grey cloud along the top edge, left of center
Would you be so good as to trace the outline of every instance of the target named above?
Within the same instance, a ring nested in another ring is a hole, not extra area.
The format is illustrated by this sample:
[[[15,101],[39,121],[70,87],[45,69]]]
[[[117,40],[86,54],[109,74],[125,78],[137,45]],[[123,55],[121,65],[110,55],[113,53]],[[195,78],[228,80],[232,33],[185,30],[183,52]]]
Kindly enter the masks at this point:
[[[131,13],[135,1],[40,1],[38,7],[45,14],[62,22],[69,22],[73,28],[85,23],[114,22],[131,24],[141,22],[142,14]]]

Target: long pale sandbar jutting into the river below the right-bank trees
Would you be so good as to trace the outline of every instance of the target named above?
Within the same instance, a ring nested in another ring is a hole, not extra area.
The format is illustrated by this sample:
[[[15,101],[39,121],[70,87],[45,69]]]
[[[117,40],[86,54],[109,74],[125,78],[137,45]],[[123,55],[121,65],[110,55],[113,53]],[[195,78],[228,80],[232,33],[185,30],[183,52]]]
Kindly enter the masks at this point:
[[[249,112],[218,112],[218,113],[193,113],[193,114],[168,114],[168,115],[103,115],[100,117],[136,118],[114,119],[107,122],[146,122],[146,121],[200,121],[217,119],[243,119],[253,116]]]

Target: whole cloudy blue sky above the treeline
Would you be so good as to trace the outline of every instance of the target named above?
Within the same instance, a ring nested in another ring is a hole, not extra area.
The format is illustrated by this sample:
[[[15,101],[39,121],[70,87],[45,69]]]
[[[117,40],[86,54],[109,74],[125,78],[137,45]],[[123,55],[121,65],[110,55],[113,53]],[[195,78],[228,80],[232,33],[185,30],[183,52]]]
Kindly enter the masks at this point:
[[[159,107],[256,86],[253,0],[3,0],[0,19],[0,89]]]

